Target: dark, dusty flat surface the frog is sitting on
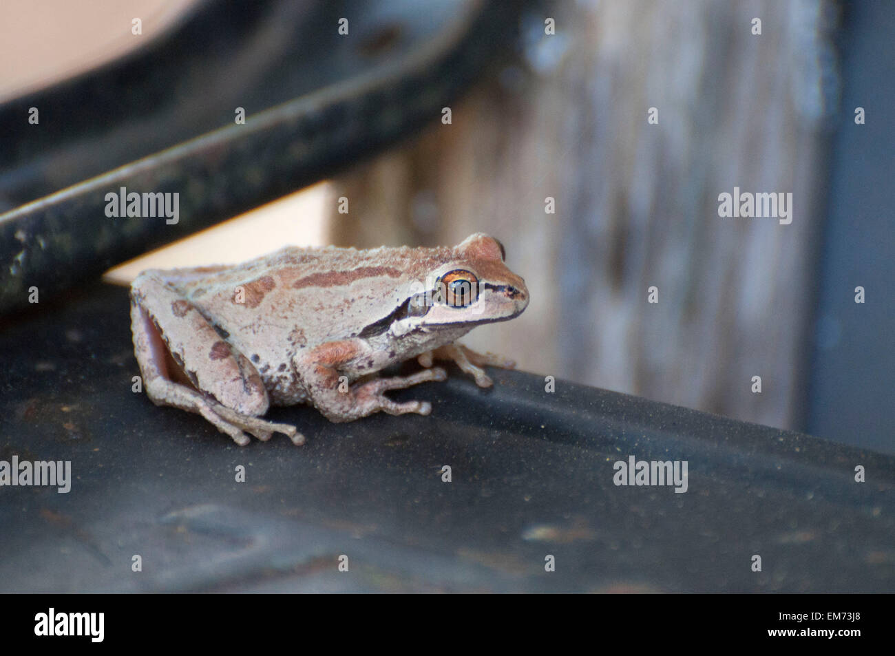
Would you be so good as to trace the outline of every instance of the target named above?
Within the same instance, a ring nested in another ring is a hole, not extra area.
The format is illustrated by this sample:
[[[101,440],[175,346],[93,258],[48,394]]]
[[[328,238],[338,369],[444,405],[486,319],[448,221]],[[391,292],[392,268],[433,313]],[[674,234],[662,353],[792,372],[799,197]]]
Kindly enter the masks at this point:
[[[891,456],[456,370],[396,395],[429,417],[278,408],[308,444],[240,448],[132,393],[127,311],[97,285],[0,326],[0,460],[70,460],[74,479],[0,488],[0,592],[895,592]],[[688,490],[616,487],[630,455],[686,460]]]

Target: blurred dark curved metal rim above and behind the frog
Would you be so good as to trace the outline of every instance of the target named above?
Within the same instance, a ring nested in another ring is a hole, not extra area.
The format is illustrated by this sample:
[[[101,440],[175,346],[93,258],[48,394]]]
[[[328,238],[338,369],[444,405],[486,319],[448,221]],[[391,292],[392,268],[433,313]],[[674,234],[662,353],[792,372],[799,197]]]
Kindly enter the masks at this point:
[[[25,306],[32,286],[47,298],[439,120],[513,47],[522,6],[206,2],[121,61],[0,106],[0,312]],[[179,194],[178,222],[107,217],[107,193],[123,187]]]

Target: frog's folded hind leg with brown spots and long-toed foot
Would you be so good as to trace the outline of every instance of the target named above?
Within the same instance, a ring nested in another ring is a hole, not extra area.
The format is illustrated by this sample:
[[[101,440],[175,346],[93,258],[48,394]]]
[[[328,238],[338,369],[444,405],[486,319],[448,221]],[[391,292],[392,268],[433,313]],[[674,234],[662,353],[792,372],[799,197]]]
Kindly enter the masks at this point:
[[[268,411],[268,393],[254,365],[221,339],[200,312],[151,272],[134,281],[131,292],[134,353],[146,394],[156,405],[199,413],[240,446],[285,433],[294,444],[304,438],[294,426],[259,419]]]

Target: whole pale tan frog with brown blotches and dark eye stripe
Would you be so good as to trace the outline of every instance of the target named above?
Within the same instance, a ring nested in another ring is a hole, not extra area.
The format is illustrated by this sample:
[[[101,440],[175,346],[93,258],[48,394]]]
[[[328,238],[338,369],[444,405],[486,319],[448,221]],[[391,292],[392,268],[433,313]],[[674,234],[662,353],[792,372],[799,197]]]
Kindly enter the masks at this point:
[[[429,414],[390,389],[444,380],[453,360],[481,387],[482,366],[512,367],[456,343],[484,323],[519,316],[524,280],[487,234],[439,248],[287,246],[230,266],[149,269],[131,285],[134,353],[156,405],[199,413],[240,446],[292,425],[261,416],[269,405],[307,403],[331,422],[379,411]],[[422,371],[377,375],[416,357]]]

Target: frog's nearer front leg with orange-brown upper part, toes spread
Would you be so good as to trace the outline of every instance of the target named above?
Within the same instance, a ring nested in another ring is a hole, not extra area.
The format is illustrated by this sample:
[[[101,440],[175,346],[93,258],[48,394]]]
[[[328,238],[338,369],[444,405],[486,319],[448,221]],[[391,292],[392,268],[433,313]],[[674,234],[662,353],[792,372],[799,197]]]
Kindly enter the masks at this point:
[[[327,342],[295,358],[295,370],[303,372],[304,387],[320,413],[330,422],[351,422],[380,411],[388,414],[431,412],[428,401],[397,403],[384,393],[430,380],[445,380],[447,374],[443,369],[436,367],[412,376],[377,378],[346,386],[345,380],[341,379],[342,372],[351,363],[367,358],[368,354],[370,347],[362,340],[345,339]]]

